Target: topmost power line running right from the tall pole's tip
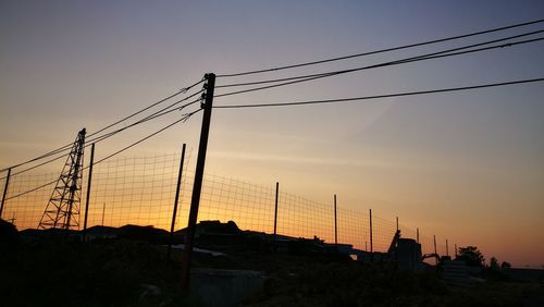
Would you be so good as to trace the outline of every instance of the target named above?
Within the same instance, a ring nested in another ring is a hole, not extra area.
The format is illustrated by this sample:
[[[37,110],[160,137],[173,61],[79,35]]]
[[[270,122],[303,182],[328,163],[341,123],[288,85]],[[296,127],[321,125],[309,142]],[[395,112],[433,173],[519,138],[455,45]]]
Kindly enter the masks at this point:
[[[420,46],[425,46],[425,45],[431,45],[431,44],[444,42],[444,41],[448,41],[448,40],[456,40],[456,39],[467,38],[467,37],[471,37],[471,36],[478,36],[478,35],[483,35],[483,34],[489,34],[489,33],[494,33],[494,32],[500,32],[500,30],[505,30],[505,29],[516,28],[516,27],[528,26],[528,25],[537,24],[537,23],[542,23],[542,22],[544,22],[544,20],[537,20],[537,21],[532,21],[532,22],[527,22],[527,23],[514,24],[514,25],[509,25],[509,26],[503,26],[503,27],[497,27],[497,28],[492,28],[492,29],[486,29],[486,30],[481,30],[481,32],[475,32],[475,33],[469,33],[469,34],[465,34],[465,35],[458,35],[458,36],[446,37],[446,38],[441,38],[441,39],[428,40],[428,41],[423,41],[423,42],[410,44],[410,45],[405,45],[405,46],[399,46],[399,47],[393,47],[393,48],[387,48],[387,49],[381,49],[381,50],[375,50],[375,51],[356,53],[356,54],[350,54],[350,56],[331,58],[331,59],[312,61],[312,62],[306,62],[306,63],[299,63],[299,64],[292,64],[292,65],[279,66],[279,67],[273,67],[273,69],[256,70],[256,71],[248,71],[248,72],[242,72],[242,73],[218,74],[218,77],[234,77],[234,76],[243,76],[243,75],[250,75],[250,74],[258,74],[258,73],[276,72],[276,71],[288,70],[288,69],[296,69],[296,67],[302,67],[302,66],[308,66],[308,65],[322,64],[322,63],[334,62],[334,61],[339,61],[339,60],[346,60],[346,59],[353,59],[353,58],[358,58],[358,57],[366,57],[366,56],[371,56],[371,54],[384,53],[384,52],[390,52],[390,51],[395,51],[395,50],[401,50],[401,49],[408,49],[408,48],[413,48],[413,47],[420,47]]]

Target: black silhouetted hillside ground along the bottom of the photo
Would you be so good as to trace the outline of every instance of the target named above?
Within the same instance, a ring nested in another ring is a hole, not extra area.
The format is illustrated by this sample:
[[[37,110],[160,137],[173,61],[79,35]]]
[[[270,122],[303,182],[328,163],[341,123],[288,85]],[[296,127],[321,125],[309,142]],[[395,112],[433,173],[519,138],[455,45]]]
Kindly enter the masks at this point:
[[[274,253],[270,236],[223,225],[209,224],[197,245],[226,256],[196,254],[193,265],[263,272],[263,291],[245,306],[540,306],[544,297],[542,284],[491,278],[455,287],[435,270],[353,261],[312,241]],[[1,306],[187,306],[178,285],[181,253],[166,258],[158,244],[163,231],[129,226],[116,238],[82,243],[74,236],[36,240],[36,233],[27,240],[8,229],[2,225],[0,241]]]

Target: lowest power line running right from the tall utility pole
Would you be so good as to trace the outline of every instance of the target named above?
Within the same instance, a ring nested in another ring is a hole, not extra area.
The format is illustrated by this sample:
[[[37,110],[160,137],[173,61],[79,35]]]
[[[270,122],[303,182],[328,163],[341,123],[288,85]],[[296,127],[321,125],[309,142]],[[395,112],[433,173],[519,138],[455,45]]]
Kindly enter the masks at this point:
[[[532,79],[521,79],[521,81],[503,82],[503,83],[491,83],[491,84],[482,84],[482,85],[472,85],[472,86],[463,86],[463,87],[452,87],[452,88],[432,89],[432,90],[419,90],[419,91],[408,91],[408,93],[397,93],[397,94],[385,94],[385,95],[375,95],[375,96],[363,96],[363,97],[351,97],[351,98],[337,98],[337,99],[324,99],[324,100],[308,100],[308,101],[295,101],[295,102],[274,102],[274,103],[257,103],[257,105],[214,106],[213,108],[214,109],[268,108],[268,107],[292,107],[292,106],[332,103],[332,102],[348,102],[348,101],[370,100],[370,99],[381,99],[381,98],[392,98],[392,97],[400,97],[400,96],[415,96],[415,95],[428,95],[428,94],[446,93],[446,91],[460,91],[460,90],[469,90],[469,89],[478,89],[478,88],[486,88],[486,87],[497,87],[497,86],[524,84],[524,83],[535,83],[535,82],[544,82],[544,77],[542,77],[542,78],[532,78]]]

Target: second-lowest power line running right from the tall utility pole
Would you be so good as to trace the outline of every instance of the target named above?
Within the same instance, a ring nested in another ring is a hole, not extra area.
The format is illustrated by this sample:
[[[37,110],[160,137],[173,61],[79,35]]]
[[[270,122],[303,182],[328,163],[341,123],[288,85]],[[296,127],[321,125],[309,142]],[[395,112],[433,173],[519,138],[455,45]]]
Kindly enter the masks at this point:
[[[544,32],[544,30],[540,30],[540,32]],[[507,44],[503,44],[503,45],[484,47],[484,48],[466,50],[466,51],[459,51],[459,52],[450,52],[453,50],[467,49],[468,47],[454,48],[454,49],[443,50],[443,51],[438,51],[438,52],[428,53],[428,54],[412,57],[412,58],[406,58],[406,59],[401,59],[401,60],[396,60],[396,61],[392,61],[392,62],[385,62],[385,63],[380,63],[380,64],[374,64],[374,65],[369,65],[369,66],[361,66],[361,67],[349,69],[349,70],[333,71],[333,72],[329,72],[329,73],[300,76],[304,78],[290,81],[290,82],[285,82],[285,83],[281,83],[281,84],[274,84],[274,85],[268,85],[268,86],[261,86],[261,87],[255,87],[255,88],[249,88],[249,89],[225,93],[225,94],[217,95],[215,98],[238,95],[238,94],[245,94],[245,93],[250,93],[250,91],[257,91],[257,90],[262,90],[262,89],[269,89],[269,88],[274,88],[274,87],[281,87],[281,86],[319,79],[319,78],[323,78],[323,77],[336,76],[336,75],[341,75],[341,74],[347,74],[347,73],[353,73],[353,72],[358,72],[358,71],[363,71],[363,70],[392,66],[392,65],[405,64],[405,63],[410,63],[410,62],[418,62],[418,61],[424,61],[424,60],[431,60],[431,59],[454,57],[454,56],[460,56],[460,54],[468,54],[468,53],[480,52],[480,51],[485,51],[485,50],[492,50],[492,49],[498,49],[498,48],[505,48],[505,47],[512,47],[512,46],[522,45],[522,44],[535,42],[535,41],[540,41],[540,40],[544,40],[544,37],[521,40],[521,41],[515,41],[515,42],[507,42]],[[446,52],[448,52],[448,53],[446,53]],[[445,54],[442,54],[442,53],[445,53]],[[436,56],[433,56],[433,54],[436,54]]]

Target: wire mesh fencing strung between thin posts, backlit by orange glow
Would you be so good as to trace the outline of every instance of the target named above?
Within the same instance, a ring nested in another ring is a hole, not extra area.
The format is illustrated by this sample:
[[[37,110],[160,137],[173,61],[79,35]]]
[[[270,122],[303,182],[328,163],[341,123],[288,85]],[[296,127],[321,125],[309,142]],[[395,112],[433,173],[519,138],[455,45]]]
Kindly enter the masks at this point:
[[[87,225],[153,225],[170,230],[181,154],[124,157],[95,164]],[[186,156],[180,192],[175,230],[187,225],[195,173]],[[88,170],[84,170],[79,229],[83,228]],[[7,173],[3,173],[5,176]],[[60,172],[38,170],[12,175],[2,218],[13,220],[20,230],[37,228]],[[1,179],[3,192],[7,179]],[[46,185],[51,183],[49,185]],[[41,188],[36,188],[40,187]],[[34,191],[35,189],[35,191]],[[29,193],[25,193],[32,191]],[[319,202],[280,188],[277,234],[292,237],[319,237],[334,243],[334,204]],[[242,180],[206,174],[202,183],[198,221],[234,221],[242,230],[273,233],[275,183],[259,185]],[[336,210],[337,241],[357,249],[370,250],[368,209],[341,206]],[[374,251],[387,251],[396,232],[395,221],[372,218]],[[399,225],[401,237],[417,240],[417,230]],[[423,254],[434,253],[432,235],[419,235]],[[453,244],[436,238],[440,255],[455,255]]]

